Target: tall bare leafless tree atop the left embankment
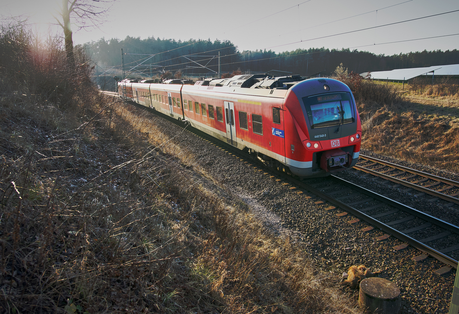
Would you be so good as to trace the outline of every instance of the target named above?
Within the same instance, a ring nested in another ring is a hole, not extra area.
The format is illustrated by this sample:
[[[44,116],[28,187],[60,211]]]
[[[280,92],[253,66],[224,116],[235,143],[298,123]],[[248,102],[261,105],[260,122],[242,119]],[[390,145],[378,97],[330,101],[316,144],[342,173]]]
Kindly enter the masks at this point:
[[[62,0],[62,6],[57,11],[56,19],[64,31],[65,52],[67,63],[71,68],[75,67],[73,56],[72,25],[76,26],[77,31],[82,28],[99,27],[105,21],[107,12],[110,8],[100,6],[103,0]],[[73,22],[70,19],[73,19]]]

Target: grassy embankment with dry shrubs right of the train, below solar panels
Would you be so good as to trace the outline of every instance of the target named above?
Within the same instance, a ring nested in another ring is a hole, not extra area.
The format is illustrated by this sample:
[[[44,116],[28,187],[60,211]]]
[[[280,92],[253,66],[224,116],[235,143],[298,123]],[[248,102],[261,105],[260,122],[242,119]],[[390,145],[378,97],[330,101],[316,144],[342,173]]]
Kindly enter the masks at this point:
[[[358,103],[362,148],[459,172],[457,84],[440,82],[420,90],[418,82],[416,86],[405,84],[403,92],[402,84],[343,81],[351,86]]]

